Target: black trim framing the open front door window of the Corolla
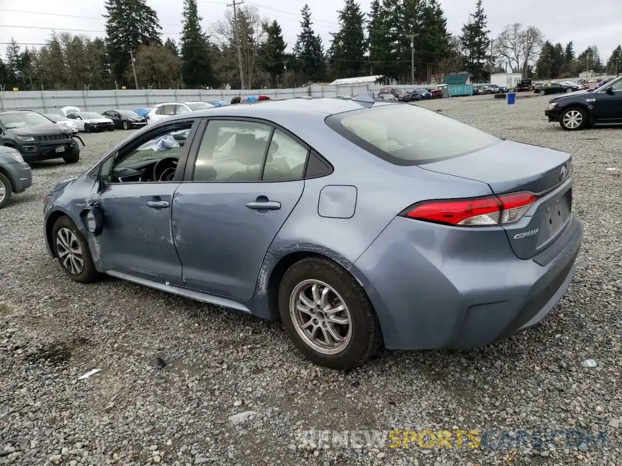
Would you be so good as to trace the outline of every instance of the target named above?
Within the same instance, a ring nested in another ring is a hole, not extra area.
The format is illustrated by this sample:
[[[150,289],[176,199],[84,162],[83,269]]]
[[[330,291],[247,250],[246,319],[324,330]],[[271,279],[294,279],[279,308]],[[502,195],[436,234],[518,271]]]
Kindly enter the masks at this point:
[[[108,155],[108,157],[104,157],[100,161],[100,163],[98,163],[93,168],[93,170],[90,171],[90,173],[88,174],[88,179],[91,181],[98,181],[101,176],[100,167],[102,167],[104,163],[108,162],[110,158],[116,157],[116,155],[118,155],[119,152],[122,152],[129,145],[135,145],[137,141],[140,141],[139,145],[141,145],[141,143],[144,144],[145,142],[152,139],[153,135],[157,132],[160,132],[160,130],[162,130],[164,127],[183,126],[183,124],[186,124],[188,122],[192,122],[192,126],[190,126],[190,132],[188,133],[188,138],[187,138],[187,141],[189,141],[190,144],[186,142],[186,144],[183,145],[182,151],[179,153],[179,162],[177,162],[177,170],[175,170],[175,176],[171,181],[128,181],[127,183],[111,183],[109,181],[106,181],[106,186],[119,186],[119,185],[134,186],[134,185],[152,185],[154,183],[160,183],[160,184],[161,183],[180,183],[183,180],[183,173],[185,173],[185,167],[188,162],[190,149],[192,148],[194,140],[196,139],[197,129],[200,126],[200,118],[195,117],[195,118],[180,119],[180,120],[175,120],[175,121],[167,120],[166,122],[163,122],[162,124],[155,126],[152,130],[149,130],[148,132],[141,134],[139,137],[132,138],[131,140],[126,142],[126,144],[123,144],[117,150],[114,150],[113,152],[111,152]],[[111,164],[110,168],[111,170],[114,168],[114,163]]]

